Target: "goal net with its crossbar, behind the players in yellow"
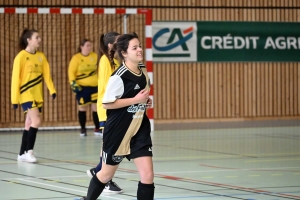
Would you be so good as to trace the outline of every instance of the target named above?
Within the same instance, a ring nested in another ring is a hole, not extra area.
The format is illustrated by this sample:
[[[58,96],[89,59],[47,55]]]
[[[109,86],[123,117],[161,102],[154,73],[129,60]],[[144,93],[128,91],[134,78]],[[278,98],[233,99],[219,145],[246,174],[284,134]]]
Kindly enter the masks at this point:
[[[80,40],[92,40],[94,51],[98,53],[102,33],[136,32],[144,44],[144,61],[149,63],[152,72],[152,55],[149,55],[152,54],[151,42],[149,48],[149,38],[146,36],[148,31],[145,29],[149,19],[151,20],[151,15],[147,16],[149,13],[151,14],[149,10],[114,8],[0,8],[0,130],[24,127],[23,110],[14,110],[10,101],[13,60],[18,53],[18,39],[24,28],[38,30],[42,38],[39,50],[48,58],[57,90],[57,99],[52,100],[44,84],[41,129],[78,128],[77,103],[68,82],[68,64],[77,53]],[[87,121],[87,125],[93,124],[90,109],[87,112]]]

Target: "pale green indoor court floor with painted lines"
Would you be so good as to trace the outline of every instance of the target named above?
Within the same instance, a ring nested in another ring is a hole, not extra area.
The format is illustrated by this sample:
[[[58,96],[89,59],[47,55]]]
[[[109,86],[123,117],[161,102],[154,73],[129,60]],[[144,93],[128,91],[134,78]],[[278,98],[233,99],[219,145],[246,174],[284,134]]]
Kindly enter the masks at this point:
[[[300,199],[300,126],[152,132],[156,200]],[[86,170],[99,160],[92,131],[40,131],[36,164],[17,162],[21,131],[0,132],[0,200],[74,200],[86,195]],[[139,176],[123,160],[113,179],[136,199]]]

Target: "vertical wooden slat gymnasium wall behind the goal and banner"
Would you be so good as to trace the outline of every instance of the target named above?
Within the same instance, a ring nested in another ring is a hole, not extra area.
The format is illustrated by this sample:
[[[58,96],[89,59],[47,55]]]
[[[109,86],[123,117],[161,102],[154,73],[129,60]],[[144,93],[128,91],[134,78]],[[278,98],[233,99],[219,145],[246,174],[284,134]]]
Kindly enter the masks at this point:
[[[88,2],[88,3],[87,3]],[[153,21],[280,21],[299,22],[297,0],[0,0],[12,7],[128,7],[152,9]],[[1,7],[1,6],[0,6]],[[84,24],[84,25],[83,25]],[[144,41],[144,17],[127,18],[128,32]],[[10,103],[10,81],[17,39],[23,27],[33,26],[43,39],[57,100],[45,90],[43,126],[77,123],[75,97],[67,81],[67,65],[82,37],[98,48],[105,31],[123,32],[121,15],[27,15],[0,14],[0,127],[22,127],[21,109]],[[55,28],[51,28],[55,27]],[[145,45],[144,45],[145,46]],[[295,119],[300,116],[299,63],[154,63],[154,122],[235,121]],[[45,88],[46,89],[46,88]],[[4,105],[4,106],[3,106]],[[88,114],[91,124],[91,115]]]

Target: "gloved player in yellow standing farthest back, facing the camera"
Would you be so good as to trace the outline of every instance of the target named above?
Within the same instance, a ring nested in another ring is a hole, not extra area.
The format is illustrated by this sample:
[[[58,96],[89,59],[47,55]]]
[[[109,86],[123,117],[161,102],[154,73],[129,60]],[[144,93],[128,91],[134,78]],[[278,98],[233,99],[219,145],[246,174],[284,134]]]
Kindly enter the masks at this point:
[[[69,64],[69,82],[73,92],[76,93],[78,103],[78,119],[81,126],[80,136],[86,134],[86,110],[91,104],[93,112],[93,121],[95,124],[94,134],[101,136],[99,130],[99,120],[97,115],[97,54],[92,51],[93,45],[89,39],[83,39],[80,42],[78,53],[76,53]]]

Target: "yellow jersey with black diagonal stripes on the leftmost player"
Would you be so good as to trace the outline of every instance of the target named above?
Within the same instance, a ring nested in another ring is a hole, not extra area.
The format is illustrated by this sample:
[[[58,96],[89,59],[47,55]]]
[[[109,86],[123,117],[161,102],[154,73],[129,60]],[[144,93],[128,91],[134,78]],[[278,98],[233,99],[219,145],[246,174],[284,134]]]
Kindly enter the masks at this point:
[[[50,76],[49,63],[44,53],[36,51],[32,54],[25,50],[20,51],[13,64],[12,104],[22,104],[29,101],[43,102],[43,79],[50,95],[56,93]]]

